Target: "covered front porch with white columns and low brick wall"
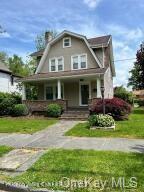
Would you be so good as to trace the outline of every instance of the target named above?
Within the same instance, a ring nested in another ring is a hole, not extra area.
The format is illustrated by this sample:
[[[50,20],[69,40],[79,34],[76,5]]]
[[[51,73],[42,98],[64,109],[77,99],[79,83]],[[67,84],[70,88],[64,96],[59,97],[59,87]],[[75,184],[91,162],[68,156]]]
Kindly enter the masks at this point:
[[[36,100],[27,99],[26,86],[28,84],[37,87]],[[30,111],[44,111],[50,103],[58,103],[65,111],[88,110],[92,99],[102,97],[101,86],[103,85],[101,75],[23,82],[22,100]]]

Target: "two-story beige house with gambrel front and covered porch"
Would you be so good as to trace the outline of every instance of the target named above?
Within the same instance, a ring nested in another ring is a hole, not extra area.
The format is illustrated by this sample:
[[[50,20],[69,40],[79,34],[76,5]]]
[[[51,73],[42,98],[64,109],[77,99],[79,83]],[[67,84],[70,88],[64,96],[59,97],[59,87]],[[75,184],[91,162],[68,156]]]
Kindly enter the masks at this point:
[[[86,107],[92,99],[113,97],[112,36],[87,39],[70,31],[63,31],[54,39],[46,33],[46,48],[32,54],[38,61],[34,75],[21,79],[23,102],[32,110],[48,103],[60,103],[65,109]],[[38,87],[38,100],[26,100],[25,84]]]

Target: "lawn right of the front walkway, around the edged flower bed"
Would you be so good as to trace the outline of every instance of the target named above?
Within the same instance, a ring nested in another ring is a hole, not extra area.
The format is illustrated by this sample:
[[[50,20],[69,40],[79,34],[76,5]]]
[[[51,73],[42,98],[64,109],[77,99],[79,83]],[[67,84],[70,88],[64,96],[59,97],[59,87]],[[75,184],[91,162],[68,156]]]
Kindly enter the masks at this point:
[[[78,137],[123,137],[144,138],[144,109],[134,109],[129,120],[117,121],[114,130],[90,130],[88,123],[79,123],[65,133],[67,136]]]

